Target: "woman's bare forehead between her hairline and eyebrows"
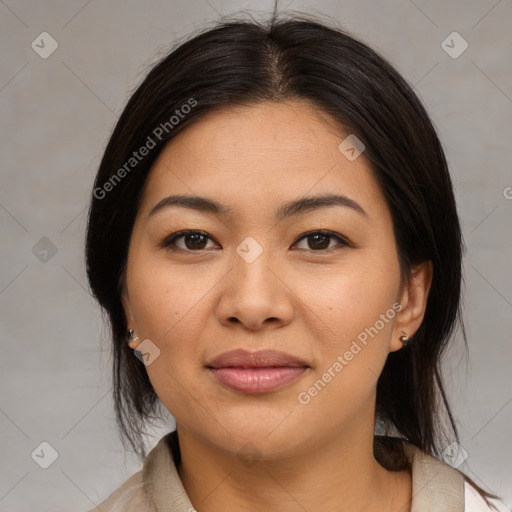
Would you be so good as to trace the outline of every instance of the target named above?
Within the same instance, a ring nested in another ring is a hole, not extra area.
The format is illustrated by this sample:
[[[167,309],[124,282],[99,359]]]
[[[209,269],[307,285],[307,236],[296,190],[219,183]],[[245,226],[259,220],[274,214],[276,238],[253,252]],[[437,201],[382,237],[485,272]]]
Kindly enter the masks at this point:
[[[382,207],[364,153],[349,160],[339,149],[348,135],[305,101],[212,111],[162,150],[148,176],[142,208],[172,193],[208,195],[240,212],[325,193],[346,195],[367,211],[379,202]]]

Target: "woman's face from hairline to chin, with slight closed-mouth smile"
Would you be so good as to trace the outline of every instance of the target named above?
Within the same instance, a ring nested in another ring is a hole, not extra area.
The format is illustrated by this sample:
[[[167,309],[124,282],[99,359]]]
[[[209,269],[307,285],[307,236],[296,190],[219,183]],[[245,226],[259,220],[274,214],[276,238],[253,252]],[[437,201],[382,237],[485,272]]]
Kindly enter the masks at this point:
[[[386,357],[421,323],[364,152],[355,158],[350,139],[339,149],[348,135],[305,102],[226,108],[184,130],[149,174],[129,247],[128,326],[146,340],[146,370],[177,424],[228,452],[251,442],[272,458],[373,435]],[[222,210],[164,201],[176,195]],[[303,203],[334,195],[348,200]],[[200,233],[171,241],[181,230]],[[236,349],[300,363],[211,368]]]

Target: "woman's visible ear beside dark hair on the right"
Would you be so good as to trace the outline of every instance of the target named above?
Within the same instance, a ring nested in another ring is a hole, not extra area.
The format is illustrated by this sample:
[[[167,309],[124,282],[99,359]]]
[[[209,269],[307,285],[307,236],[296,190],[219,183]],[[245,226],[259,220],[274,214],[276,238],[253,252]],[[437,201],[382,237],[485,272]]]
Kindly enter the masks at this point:
[[[409,338],[419,329],[427,308],[428,293],[432,284],[432,262],[424,261],[411,268],[409,279],[400,293],[401,310],[397,314],[389,351],[400,350],[400,336],[404,332]]]

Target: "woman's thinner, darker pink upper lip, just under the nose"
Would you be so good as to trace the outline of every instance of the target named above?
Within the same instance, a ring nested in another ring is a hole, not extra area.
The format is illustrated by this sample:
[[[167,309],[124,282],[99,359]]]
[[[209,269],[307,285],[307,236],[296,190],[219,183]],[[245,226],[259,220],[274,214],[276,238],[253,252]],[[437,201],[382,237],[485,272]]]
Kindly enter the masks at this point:
[[[271,366],[309,366],[305,361],[276,350],[249,352],[238,349],[224,352],[210,361],[208,368],[268,368]]]

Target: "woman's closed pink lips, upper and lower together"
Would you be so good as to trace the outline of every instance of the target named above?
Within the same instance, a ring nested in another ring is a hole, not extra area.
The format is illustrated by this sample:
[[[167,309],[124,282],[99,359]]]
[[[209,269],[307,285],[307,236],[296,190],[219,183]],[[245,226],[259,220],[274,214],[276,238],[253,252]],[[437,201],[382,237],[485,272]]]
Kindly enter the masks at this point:
[[[309,365],[275,350],[233,350],[206,365],[224,386],[248,394],[269,393],[294,382]]]

